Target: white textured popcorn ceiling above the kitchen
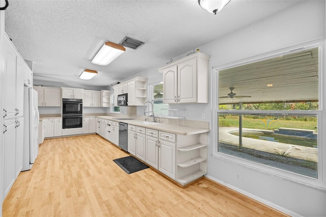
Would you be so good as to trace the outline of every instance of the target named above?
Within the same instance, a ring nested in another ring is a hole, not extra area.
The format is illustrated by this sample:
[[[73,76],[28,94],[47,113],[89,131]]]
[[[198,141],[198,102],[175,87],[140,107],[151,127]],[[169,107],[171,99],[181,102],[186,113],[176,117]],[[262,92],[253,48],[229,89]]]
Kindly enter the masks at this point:
[[[34,62],[38,83],[104,87],[300,2],[231,0],[213,15],[197,0],[9,0],[6,32],[21,56]],[[91,63],[105,41],[119,43],[125,36],[145,44],[137,50],[126,47],[108,66]],[[84,69],[98,75],[80,80]]]

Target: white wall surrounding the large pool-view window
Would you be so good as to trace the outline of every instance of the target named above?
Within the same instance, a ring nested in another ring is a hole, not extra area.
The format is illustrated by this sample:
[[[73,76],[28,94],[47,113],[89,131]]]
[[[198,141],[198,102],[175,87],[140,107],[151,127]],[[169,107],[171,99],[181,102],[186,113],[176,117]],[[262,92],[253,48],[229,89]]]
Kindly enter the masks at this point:
[[[212,68],[325,35],[325,1],[306,1],[198,48],[211,57],[209,65]],[[185,57],[185,54],[179,57]],[[148,77],[148,84],[160,82],[162,75],[158,73],[157,68],[134,76]],[[212,129],[211,103],[171,107],[186,108],[189,119],[193,120],[201,120],[201,114],[204,113]],[[142,111],[142,108],[138,108],[138,111]],[[211,142],[208,150],[207,177],[291,215],[326,216],[326,190],[322,191],[320,188],[316,189],[213,157]]]

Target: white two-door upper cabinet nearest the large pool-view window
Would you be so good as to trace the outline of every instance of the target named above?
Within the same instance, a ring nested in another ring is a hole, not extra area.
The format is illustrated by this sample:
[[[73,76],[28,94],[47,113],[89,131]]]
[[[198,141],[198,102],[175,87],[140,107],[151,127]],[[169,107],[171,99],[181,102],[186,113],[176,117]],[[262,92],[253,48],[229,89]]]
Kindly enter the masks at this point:
[[[164,103],[208,103],[209,56],[196,52],[158,69]]]

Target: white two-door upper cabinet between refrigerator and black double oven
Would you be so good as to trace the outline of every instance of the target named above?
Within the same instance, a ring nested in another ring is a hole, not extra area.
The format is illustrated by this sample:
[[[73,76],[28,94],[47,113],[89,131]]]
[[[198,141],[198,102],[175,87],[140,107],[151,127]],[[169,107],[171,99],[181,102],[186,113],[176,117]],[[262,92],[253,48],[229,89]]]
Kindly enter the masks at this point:
[[[38,93],[38,106],[61,106],[61,89],[34,86]]]

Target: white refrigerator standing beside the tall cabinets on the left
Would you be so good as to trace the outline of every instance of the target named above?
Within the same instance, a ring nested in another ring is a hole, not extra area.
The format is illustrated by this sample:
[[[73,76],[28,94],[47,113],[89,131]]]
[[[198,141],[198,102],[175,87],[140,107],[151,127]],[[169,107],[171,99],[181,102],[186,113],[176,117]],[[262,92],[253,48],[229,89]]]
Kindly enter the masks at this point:
[[[30,170],[39,153],[38,110],[37,91],[33,88],[24,87],[24,148],[22,171]]]

